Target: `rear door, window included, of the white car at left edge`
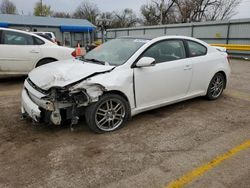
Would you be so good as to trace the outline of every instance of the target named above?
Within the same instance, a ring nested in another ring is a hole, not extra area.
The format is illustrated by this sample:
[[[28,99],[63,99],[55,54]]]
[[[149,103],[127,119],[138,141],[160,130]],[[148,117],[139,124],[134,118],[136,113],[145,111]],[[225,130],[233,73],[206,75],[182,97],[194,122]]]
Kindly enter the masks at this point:
[[[41,57],[34,37],[21,32],[3,30],[0,44],[2,73],[27,73]]]

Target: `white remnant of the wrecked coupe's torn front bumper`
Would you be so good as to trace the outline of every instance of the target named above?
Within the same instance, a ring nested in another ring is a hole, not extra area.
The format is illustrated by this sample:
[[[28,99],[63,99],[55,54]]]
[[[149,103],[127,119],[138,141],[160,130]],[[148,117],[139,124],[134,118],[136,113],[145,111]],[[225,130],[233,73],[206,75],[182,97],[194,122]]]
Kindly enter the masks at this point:
[[[22,91],[22,114],[26,114],[31,117],[35,122],[39,122],[41,119],[41,110],[29,97],[26,89]]]

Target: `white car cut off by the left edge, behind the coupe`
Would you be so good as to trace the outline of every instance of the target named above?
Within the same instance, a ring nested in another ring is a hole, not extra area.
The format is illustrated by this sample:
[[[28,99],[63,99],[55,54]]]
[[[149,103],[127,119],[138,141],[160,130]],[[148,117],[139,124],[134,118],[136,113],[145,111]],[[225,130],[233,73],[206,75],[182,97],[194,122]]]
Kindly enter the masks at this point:
[[[58,46],[36,34],[0,28],[0,76],[26,75],[35,67],[72,59],[73,48]]]

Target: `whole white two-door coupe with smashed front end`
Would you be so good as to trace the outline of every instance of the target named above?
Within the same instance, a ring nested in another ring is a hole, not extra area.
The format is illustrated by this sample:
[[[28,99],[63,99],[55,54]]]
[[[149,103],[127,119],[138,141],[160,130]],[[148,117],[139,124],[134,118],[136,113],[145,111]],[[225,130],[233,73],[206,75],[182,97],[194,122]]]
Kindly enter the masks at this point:
[[[22,114],[34,121],[71,124],[85,115],[97,133],[121,128],[138,113],[207,96],[226,88],[227,54],[184,36],[121,37],[82,60],[66,60],[29,73],[22,91]]]

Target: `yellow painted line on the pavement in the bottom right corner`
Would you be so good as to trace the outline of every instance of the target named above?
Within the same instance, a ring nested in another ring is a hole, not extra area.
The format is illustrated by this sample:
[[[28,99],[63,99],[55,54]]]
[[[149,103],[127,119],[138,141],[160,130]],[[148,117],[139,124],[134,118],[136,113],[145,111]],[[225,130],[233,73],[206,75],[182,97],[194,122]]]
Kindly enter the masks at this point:
[[[212,161],[206,163],[205,165],[202,165],[196,169],[194,169],[191,172],[188,172],[184,176],[180,177],[179,179],[171,182],[169,185],[166,186],[166,188],[181,188],[185,186],[186,184],[192,182],[199,176],[202,176],[205,172],[213,169],[214,167],[218,166],[223,161],[229,159],[233,155],[237,154],[238,152],[242,150],[250,149],[250,140],[247,140],[246,142],[242,143],[239,146],[236,146],[235,148],[229,150],[228,152],[217,156]]]

